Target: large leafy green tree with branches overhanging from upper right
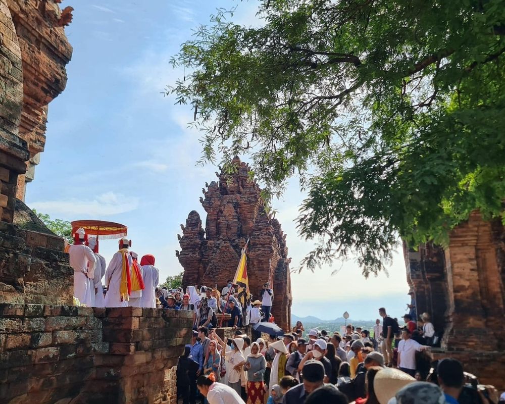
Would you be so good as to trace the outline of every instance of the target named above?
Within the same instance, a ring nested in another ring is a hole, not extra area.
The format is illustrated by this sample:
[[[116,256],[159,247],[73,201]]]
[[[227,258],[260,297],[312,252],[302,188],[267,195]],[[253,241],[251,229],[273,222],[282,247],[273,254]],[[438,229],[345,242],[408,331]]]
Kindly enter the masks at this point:
[[[249,155],[268,200],[299,176],[303,265],[358,256],[377,273],[398,235],[445,245],[505,197],[505,0],[261,0],[219,10],[172,62],[203,157]]]

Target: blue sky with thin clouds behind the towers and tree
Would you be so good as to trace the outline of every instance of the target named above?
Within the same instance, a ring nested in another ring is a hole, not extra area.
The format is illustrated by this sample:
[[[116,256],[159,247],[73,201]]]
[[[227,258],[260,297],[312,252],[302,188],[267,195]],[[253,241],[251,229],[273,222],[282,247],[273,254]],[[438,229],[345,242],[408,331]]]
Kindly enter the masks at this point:
[[[72,0],[66,28],[74,48],[65,91],[49,105],[47,142],[28,184],[26,202],[53,218],[103,219],[124,223],[139,255],[153,254],[160,278],[181,271],[175,257],[179,224],[197,210],[201,188],[215,179],[212,165],[195,166],[198,133],[187,129],[189,107],[162,92],[183,72],[169,59],[208,23],[216,8],[237,5],[233,21],[258,23],[250,0]],[[246,161],[247,157],[242,156]],[[292,179],[283,200],[274,201],[293,269],[311,249],[299,239],[294,219],[304,195]],[[100,243],[109,260],[116,241]],[[332,271],[338,272],[331,275]],[[399,317],[408,300],[405,264],[396,254],[389,277],[364,279],[353,262],[334,263],[291,275],[292,312],[322,319],[374,319],[386,306]]]

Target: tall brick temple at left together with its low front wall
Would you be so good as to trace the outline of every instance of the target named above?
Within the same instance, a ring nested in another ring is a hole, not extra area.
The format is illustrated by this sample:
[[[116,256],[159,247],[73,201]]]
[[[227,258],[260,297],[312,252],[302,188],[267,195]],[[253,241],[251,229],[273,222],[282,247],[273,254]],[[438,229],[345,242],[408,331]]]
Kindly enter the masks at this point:
[[[63,239],[22,201],[72,54],[59,3],[0,0],[0,403],[175,404],[191,314],[72,306]]]

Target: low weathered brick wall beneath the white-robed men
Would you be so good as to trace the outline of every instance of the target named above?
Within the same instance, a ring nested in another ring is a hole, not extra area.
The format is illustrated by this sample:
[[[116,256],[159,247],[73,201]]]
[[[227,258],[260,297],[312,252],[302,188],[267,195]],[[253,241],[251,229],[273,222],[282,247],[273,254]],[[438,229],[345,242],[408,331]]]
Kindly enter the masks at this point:
[[[175,404],[191,314],[0,304],[0,402]]]

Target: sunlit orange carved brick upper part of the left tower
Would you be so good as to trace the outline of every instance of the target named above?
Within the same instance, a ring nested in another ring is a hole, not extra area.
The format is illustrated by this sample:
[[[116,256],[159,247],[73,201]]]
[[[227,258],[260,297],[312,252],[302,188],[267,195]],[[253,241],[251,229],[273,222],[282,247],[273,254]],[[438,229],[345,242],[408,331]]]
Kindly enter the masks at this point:
[[[67,84],[65,66],[72,47],[64,26],[72,19],[72,8],[63,12],[56,0],[7,0],[23,68],[23,108],[19,136],[26,141],[28,173],[17,178],[17,197],[24,200],[25,182],[33,179],[34,166],[44,150],[48,104]]]

